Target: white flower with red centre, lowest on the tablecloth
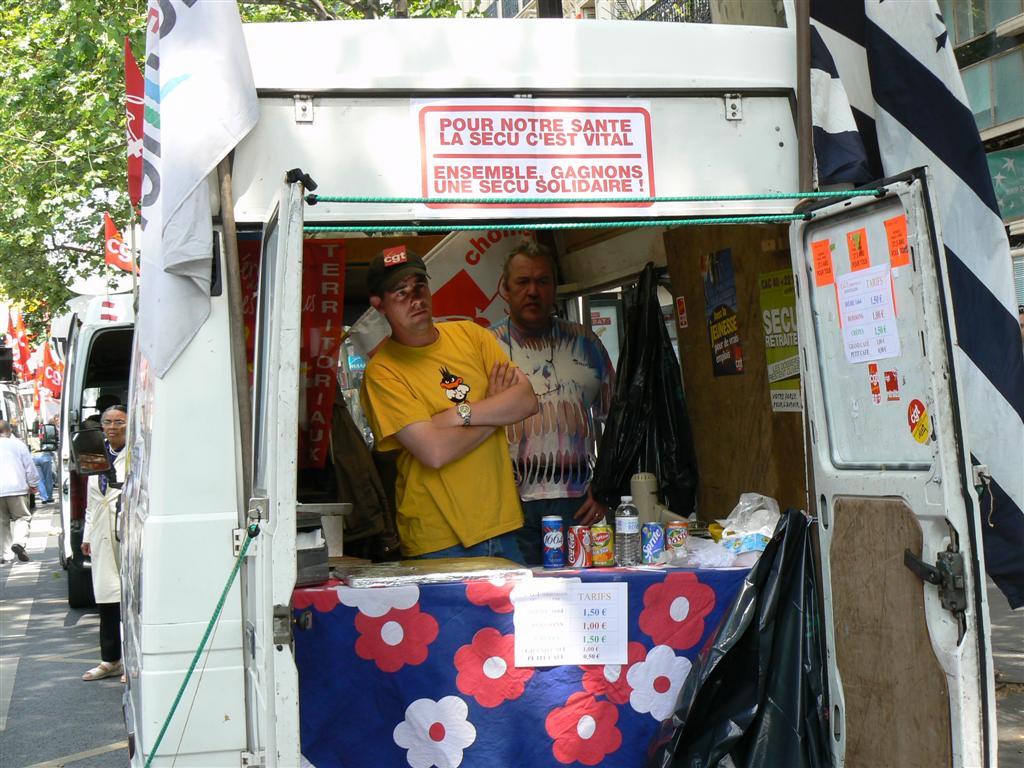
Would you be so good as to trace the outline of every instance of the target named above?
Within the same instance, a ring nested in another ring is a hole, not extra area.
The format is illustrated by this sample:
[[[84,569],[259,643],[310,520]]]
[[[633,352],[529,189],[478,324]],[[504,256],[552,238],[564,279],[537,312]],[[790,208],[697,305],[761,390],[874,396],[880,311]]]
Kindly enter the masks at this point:
[[[412,768],[456,768],[462,765],[463,752],[476,740],[468,714],[469,707],[459,696],[438,701],[418,698],[394,727],[394,742],[407,750]]]

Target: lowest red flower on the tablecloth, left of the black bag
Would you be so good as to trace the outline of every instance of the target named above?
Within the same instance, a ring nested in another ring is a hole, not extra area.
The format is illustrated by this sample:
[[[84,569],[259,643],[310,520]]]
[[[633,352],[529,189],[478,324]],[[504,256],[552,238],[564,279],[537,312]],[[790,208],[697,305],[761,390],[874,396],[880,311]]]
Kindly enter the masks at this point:
[[[559,763],[597,765],[623,744],[617,722],[618,708],[613,703],[578,691],[564,707],[548,713],[544,727],[555,740],[551,752]]]

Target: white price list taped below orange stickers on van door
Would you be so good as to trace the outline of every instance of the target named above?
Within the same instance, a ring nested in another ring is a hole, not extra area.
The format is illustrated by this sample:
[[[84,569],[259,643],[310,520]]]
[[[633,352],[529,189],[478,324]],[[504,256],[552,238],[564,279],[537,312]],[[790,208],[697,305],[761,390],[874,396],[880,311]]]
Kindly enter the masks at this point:
[[[889,266],[872,266],[836,278],[847,362],[898,357],[899,331]]]

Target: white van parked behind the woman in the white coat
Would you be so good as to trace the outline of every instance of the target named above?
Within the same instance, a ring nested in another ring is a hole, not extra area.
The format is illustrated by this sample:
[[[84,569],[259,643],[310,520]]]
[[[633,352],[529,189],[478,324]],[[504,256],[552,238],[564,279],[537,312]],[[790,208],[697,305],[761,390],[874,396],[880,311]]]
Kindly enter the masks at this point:
[[[79,473],[71,437],[84,426],[99,428],[100,409],[128,402],[135,312],[131,294],[91,299],[73,314],[65,342],[60,394],[60,564],[68,571],[68,604],[93,604],[89,558],[82,554],[88,478]]]

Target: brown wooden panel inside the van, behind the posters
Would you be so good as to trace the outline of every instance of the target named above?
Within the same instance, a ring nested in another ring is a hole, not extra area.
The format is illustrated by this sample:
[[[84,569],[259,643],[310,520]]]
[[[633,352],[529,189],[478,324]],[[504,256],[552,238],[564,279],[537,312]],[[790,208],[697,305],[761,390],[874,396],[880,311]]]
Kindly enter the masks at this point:
[[[677,333],[700,472],[698,514],[724,517],[745,492],[770,496],[782,509],[805,509],[803,423],[799,413],[771,410],[758,285],[762,272],[790,268],[787,228],[682,227],[667,232],[665,242],[673,295],[685,298],[689,323]],[[743,373],[716,377],[700,258],[723,248],[732,249]]]

